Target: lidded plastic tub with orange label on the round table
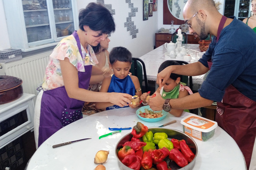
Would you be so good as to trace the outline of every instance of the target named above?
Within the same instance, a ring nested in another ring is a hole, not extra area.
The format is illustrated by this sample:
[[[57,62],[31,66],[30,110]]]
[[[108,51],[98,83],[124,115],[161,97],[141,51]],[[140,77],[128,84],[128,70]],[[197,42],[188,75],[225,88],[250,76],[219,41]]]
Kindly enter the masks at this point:
[[[217,122],[195,114],[182,118],[180,123],[185,134],[202,141],[210,139],[218,126]]]

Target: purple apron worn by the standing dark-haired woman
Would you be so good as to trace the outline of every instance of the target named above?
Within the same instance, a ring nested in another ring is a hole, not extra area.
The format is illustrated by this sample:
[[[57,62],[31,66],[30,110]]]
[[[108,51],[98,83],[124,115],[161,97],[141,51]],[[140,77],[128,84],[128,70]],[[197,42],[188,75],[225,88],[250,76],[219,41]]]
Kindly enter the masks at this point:
[[[73,36],[82,55],[81,43],[76,31]],[[85,72],[78,71],[79,88],[87,89],[91,78],[92,65],[84,66]],[[65,86],[43,92],[39,124],[38,147],[63,126],[83,118],[84,101],[69,98]]]

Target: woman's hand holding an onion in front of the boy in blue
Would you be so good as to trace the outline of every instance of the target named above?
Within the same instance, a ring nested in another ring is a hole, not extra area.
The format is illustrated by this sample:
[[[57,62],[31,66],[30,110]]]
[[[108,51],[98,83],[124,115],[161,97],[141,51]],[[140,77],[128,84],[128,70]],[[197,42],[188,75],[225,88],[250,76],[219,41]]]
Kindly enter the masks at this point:
[[[124,107],[128,106],[131,103],[132,96],[129,94],[123,94],[119,92],[111,92],[109,93],[109,102],[114,105]]]

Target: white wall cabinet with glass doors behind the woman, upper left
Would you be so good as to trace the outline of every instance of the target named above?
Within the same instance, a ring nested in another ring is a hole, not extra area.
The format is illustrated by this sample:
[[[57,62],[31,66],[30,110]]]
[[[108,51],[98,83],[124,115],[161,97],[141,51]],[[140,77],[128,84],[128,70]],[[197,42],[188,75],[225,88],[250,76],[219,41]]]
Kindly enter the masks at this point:
[[[78,28],[74,0],[3,0],[11,48],[51,47]]]

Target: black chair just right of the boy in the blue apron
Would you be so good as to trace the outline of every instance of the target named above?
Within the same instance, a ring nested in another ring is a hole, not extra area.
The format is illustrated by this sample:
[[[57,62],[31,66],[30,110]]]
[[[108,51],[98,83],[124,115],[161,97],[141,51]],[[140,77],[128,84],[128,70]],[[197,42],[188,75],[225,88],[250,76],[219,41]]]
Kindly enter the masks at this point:
[[[132,75],[135,75],[136,77],[138,77],[140,81],[140,87],[141,87],[142,93],[147,92],[148,79],[147,79],[145,63],[140,58],[132,58],[132,65],[131,65],[130,72],[132,73]],[[144,76],[144,79],[143,79],[143,76]],[[143,81],[145,82],[145,88],[142,87]]]

